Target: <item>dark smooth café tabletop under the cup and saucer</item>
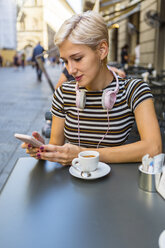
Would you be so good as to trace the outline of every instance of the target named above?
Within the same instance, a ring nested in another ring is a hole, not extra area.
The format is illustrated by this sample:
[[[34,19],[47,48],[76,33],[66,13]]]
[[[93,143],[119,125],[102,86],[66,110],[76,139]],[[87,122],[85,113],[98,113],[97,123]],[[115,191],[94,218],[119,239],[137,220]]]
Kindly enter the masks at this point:
[[[1,248],[155,248],[165,201],[138,188],[138,164],[93,181],[20,158],[0,194]]]

